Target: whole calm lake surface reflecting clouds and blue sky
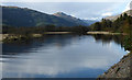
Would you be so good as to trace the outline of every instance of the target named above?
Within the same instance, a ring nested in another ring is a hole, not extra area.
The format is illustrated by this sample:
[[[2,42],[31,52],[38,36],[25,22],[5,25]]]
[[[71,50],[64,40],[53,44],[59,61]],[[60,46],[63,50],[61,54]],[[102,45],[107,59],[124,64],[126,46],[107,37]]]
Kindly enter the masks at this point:
[[[45,35],[2,47],[3,78],[97,78],[127,54],[120,36],[103,35]]]

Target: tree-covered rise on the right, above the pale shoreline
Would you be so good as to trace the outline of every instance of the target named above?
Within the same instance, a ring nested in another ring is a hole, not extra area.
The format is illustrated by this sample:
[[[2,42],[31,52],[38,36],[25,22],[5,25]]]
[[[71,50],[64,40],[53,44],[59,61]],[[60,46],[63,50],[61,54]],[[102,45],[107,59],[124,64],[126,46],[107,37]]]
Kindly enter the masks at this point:
[[[91,30],[132,33],[132,16],[123,13],[116,21],[102,19],[101,22],[92,24]]]

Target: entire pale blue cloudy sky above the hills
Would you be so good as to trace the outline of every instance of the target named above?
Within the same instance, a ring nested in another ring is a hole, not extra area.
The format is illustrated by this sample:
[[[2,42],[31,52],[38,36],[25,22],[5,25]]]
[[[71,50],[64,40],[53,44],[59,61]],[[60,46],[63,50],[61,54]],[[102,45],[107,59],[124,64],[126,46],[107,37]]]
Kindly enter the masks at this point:
[[[130,9],[131,0],[1,0],[2,5],[29,8],[44,13],[66,14],[85,19],[101,20]]]

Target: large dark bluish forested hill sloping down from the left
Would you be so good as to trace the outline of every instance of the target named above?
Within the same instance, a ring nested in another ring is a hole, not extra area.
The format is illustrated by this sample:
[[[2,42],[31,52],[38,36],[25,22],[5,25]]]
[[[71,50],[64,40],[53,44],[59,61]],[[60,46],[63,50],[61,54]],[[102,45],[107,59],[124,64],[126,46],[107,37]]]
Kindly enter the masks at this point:
[[[10,26],[77,26],[80,23],[28,8],[2,7],[2,24]],[[81,23],[81,24],[85,24]],[[87,24],[87,23],[86,23]]]

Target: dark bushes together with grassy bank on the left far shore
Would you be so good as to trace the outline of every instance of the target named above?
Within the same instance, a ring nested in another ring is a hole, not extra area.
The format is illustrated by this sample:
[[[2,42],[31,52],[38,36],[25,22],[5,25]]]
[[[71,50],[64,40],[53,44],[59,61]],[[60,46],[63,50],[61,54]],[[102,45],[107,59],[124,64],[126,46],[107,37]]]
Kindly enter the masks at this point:
[[[37,27],[13,27],[3,25],[3,34],[9,34],[8,37],[3,39],[4,43],[26,43],[28,41],[45,34],[45,32],[73,32],[75,34],[86,34],[89,28],[87,26],[37,26]]]

